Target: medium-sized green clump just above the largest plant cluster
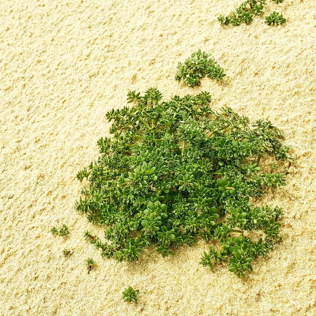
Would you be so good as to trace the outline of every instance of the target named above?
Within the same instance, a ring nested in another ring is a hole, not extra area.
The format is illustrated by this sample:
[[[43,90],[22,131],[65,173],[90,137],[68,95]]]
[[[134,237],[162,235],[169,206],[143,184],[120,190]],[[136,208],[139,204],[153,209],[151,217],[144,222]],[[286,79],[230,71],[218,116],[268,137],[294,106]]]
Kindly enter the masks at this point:
[[[222,80],[226,74],[224,74],[223,69],[217,65],[214,59],[209,58],[210,55],[198,49],[183,64],[178,64],[176,80],[179,82],[184,80],[190,87],[199,85],[200,78],[205,76],[214,78],[217,81]]]

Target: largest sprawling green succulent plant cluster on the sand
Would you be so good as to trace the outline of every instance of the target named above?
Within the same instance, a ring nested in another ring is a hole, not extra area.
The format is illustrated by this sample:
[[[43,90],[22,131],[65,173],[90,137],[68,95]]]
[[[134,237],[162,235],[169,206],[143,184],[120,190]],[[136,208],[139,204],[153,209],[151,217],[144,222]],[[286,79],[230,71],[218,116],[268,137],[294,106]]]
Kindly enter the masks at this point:
[[[117,261],[137,260],[150,244],[165,257],[199,238],[220,242],[201,264],[228,259],[244,276],[280,240],[282,209],[253,207],[250,198],[286,184],[276,168],[261,171],[266,156],[275,165],[291,159],[283,133],[264,120],[250,125],[230,108],[214,112],[208,92],[161,99],[154,88],[131,91],[132,107],[107,113],[113,136],[97,141],[98,160],[78,172],[86,185],[76,202],[90,222],[108,227],[106,241],[85,237]],[[262,237],[244,238],[245,230]]]

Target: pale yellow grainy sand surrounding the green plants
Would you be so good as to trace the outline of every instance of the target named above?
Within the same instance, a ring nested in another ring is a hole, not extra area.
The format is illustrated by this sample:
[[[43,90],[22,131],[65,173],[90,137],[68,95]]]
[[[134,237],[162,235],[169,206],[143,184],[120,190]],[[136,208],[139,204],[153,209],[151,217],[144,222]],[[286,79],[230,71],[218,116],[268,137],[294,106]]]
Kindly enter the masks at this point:
[[[316,315],[316,3],[267,2],[284,26],[260,17],[221,27],[217,17],[240,0],[0,1],[1,316]],[[174,80],[198,48],[224,68],[223,83]],[[103,228],[75,211],[76,174],[98,156],[105,114],[150,87],[166,100],[209,91],[214,108],[272,121],[293,148],[288,185],[262,198],[284,208],[284,241],[245,280],[199,265],[203,242],[117,264],[84,239]],[[63,224],[65,240],[50,233]],[[128,285],[137,304],[122,299]]]

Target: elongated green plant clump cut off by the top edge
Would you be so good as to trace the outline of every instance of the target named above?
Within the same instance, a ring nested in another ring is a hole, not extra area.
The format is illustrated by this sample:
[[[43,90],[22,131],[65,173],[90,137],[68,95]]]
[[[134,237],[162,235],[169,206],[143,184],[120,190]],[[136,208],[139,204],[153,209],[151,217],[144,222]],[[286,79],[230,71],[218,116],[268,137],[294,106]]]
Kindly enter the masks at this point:
[[[233,26],[240,25],[241,23],[250,24],[253,20],[253,15],[259,16],[263,13],[264,5],[266,5],[265,0],[246,0],[243,2],[235,11],[228,15],[221,15],[218,21],[221,25],[231,24]]]

